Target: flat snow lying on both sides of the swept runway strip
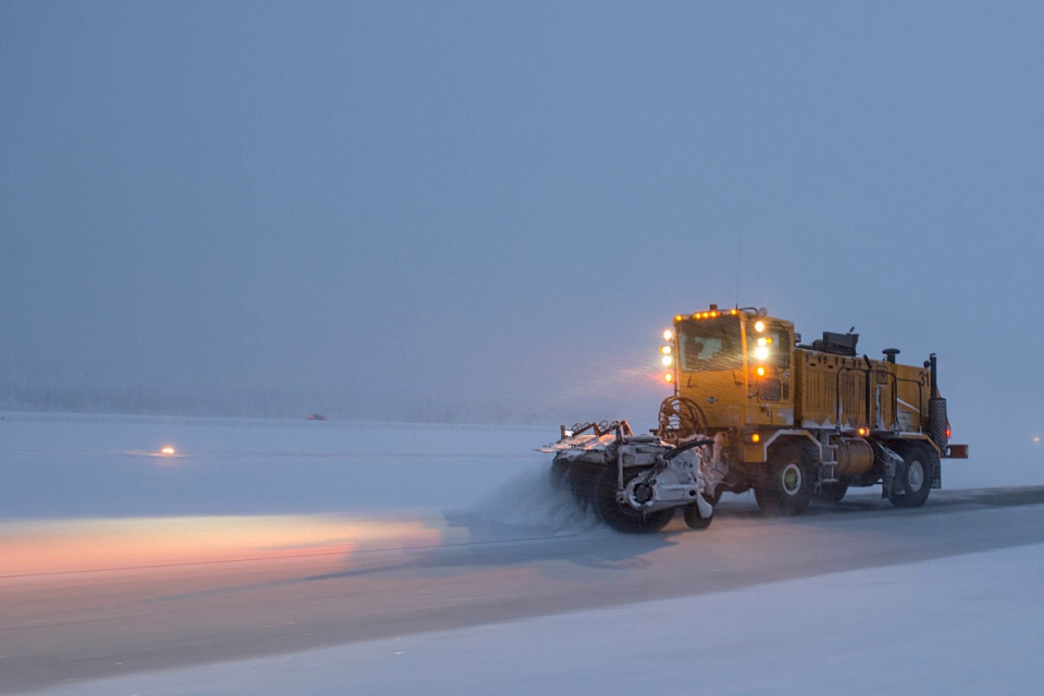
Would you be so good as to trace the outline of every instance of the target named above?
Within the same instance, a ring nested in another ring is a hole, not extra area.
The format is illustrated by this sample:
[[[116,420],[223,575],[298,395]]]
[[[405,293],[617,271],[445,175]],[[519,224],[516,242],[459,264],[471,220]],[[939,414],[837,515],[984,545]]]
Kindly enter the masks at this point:
[[[532,449],[556,430],[0,414],[0,575],[15,574],[15,566],[40,573],[96,570],[18,544],[29,535],[67,540],[84,530],[121,539],[112,561],[121,563],[146,563],[156,552],[128,542],[145,527],[191,527],[191,538],[211,539],[214,552],[237,543],[237,525],[259,524],[290,535],[320,527],[341,543],[353,533],[346,529],[365,527],[368,543],[381,548],[447,544],[461,530],[431,520],[446,520],[452,510],[470,515],[472,536],[483,533],[474,520],[487,520],[487,534],[538,530],[600,538],[605,530],[545,488],[545,462]],[[164,446],[176,453],[161,455]],[[945,464],[946,488],[999,484],[1044,484],[1044,468],[1039,460],[989,469],[977,459]],[[505,505],[504,490],[520,487],[529,495]],[[745,497],[726,496],[723,504],[749,507]],[[222,534],[208,534],[219,527]],[[296,539],[283,540],[279,548]],[[196,542],[183,549],[206,550]],[[407,632],[42,693],[1031,694],[1044,678],[1035,656],[1044,638],[1042,551],[1042,545],[1017,546]],[[181,551],[165,546],[163,552]],[[89,562],[108,561],[95,554]],[[3,627],[9,639],[17,636]],[[3,651],[0,645],[0,657]]]

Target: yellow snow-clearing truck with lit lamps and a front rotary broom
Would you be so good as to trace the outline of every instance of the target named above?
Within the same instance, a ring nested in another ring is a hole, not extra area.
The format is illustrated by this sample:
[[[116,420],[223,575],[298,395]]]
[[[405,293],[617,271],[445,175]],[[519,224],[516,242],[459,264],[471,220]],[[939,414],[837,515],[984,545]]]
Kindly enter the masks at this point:
[[[663,338],[674,394],[651,435],[581,423],[544,448],[552,478],[618,530],[662,529],[678,509],[706,527],[722,492],[749,489],[772,514],[878,484],[893,505],[918,507],[941,485],[941,460],[968,457],[949,444],[934,353],[920,366],[894,348],[873,360],[852,331],[806,345],[763,309],[714,304],[676,315]]]

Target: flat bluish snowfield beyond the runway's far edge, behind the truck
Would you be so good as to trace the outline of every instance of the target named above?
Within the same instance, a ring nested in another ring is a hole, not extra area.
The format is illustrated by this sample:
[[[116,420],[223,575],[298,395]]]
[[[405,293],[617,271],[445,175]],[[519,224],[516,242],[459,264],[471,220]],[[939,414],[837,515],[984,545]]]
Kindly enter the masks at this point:
[[[555,426],[0,413],[0,519],[438,508],[508,524],[583,525],[567,497],[535,495],[549,456],[534,449],[557,434]],[[159,456],[165,445],[177,455]],[[1044,449],[1036,449],[994,460],[972,443],[972,459],[944,462],[943,486],[1044,484]]]

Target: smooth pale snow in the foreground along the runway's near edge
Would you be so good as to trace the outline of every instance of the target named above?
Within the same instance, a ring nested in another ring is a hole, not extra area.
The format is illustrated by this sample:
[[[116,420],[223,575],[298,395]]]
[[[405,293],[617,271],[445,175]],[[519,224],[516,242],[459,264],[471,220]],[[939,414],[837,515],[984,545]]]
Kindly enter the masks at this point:
[[[1042,581],[1027,546],[42,693],[1029,695]]]

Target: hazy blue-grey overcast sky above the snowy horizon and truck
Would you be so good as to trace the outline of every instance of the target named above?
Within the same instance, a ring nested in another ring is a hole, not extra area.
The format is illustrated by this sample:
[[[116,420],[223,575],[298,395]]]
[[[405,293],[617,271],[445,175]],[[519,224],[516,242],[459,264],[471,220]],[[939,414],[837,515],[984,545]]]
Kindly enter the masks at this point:
[[[738,302],[1029,439],[1042,20],[5,0],[0,371],[641,420],[671,316]]]

